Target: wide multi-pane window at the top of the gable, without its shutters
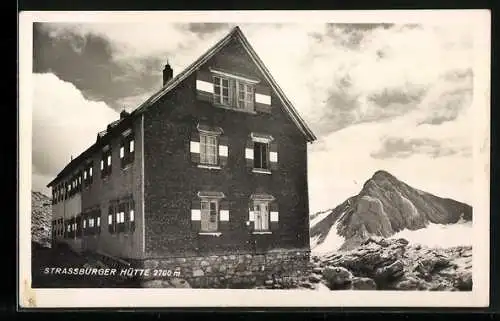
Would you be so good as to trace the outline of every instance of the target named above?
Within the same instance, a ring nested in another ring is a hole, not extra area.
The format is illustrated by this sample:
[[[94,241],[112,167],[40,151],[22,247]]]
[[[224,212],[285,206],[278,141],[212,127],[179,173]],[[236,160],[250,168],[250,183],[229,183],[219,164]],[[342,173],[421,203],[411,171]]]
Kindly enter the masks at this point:
[[[235,109],[254,109],[254,88],[240,79],[213,77],[214,103]]]

